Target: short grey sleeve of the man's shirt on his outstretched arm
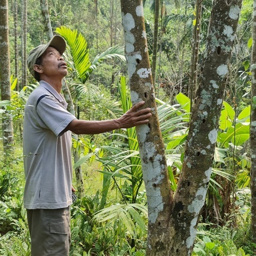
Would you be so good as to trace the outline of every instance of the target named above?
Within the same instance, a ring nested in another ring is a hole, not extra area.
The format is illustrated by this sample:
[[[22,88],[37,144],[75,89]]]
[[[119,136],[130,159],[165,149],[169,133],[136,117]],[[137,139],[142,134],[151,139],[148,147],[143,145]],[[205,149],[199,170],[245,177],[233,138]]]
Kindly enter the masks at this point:
[[[40,100],[37,106],[37,113],[46,127],[56,136],[62,135],[62,131],[68,124],[76,119],[58,100],[50,95]]]

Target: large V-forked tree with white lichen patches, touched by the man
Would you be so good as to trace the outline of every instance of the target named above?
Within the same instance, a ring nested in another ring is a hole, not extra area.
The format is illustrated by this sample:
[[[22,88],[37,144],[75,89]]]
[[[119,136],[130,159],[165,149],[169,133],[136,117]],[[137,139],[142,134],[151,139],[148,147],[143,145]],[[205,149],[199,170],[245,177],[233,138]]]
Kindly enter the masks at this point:
[[[142,1],[121,1],[131,99],[153,110],[149,126],[137,127],[149,224],[147,255],[191,255],[204,204],[218,120],[242,0],[214,0],[185,158],[174,198],[166,171],[147,55]],[[142,36],[141,36],[142,35]]]

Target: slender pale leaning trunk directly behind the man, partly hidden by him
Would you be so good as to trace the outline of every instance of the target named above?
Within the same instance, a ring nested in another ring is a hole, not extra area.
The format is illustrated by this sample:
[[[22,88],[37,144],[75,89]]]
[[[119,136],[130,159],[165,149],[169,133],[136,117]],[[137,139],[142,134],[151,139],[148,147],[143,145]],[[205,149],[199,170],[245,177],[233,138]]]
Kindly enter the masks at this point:
[[[52,32],[52,25],[50,22],[48,2],[47,0],[40,0],[40,2],[41,2],[41,13],[43,15],[43,21],[44,21],[44,29],[47,33],[48,40],[50,40],[50,38],[53,37],[53,32]],[[65,79],[62,80],[62,92],[64,94],[65,100],[68,103],[68,111],[73,115],[76,115],[73,100],[70,94],[70,89],[68,88],[68,85]],[[79,140],[79,136],[77,134],[74,134],[73,138],[76,141]],[[74,162],[77,162],[80,159],[79,152],[80,152],[79,146],[73,147]],[[84,188],[83,188],[83,175],[82,175],[81,166],[75,168],[74,171],[76,174],[77,191],[78,191],[79,197],[82,197],[84,194]]]

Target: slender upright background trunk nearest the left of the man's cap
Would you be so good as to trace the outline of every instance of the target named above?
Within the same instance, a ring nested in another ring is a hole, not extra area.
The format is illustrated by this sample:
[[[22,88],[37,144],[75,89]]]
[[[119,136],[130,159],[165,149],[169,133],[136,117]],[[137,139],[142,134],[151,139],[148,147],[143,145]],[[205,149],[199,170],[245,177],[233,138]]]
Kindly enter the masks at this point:
[[[22,87],[26,86],[27,77],[27,56],[26,56],[26,44],[27,44],[27,0],[23,0],[23,16],[22,16]]]

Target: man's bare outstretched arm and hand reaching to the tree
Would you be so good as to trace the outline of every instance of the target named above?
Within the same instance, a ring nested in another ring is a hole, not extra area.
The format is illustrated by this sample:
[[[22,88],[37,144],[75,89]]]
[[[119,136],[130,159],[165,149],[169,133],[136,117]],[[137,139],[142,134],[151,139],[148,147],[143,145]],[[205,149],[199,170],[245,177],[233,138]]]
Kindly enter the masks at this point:
[[[151,116],[151,109],[141,109],[144,101],[135,104],[128,112],[118,119],[104,120],[104,121],[85,121],[74,119],[67,126],[65,131],[72,131],[76,134],[99,134],[107,131],[113,131],[120,128],[131,128],[135,125],[147,124]],[[65,132],[64,131],[64,132]]]

